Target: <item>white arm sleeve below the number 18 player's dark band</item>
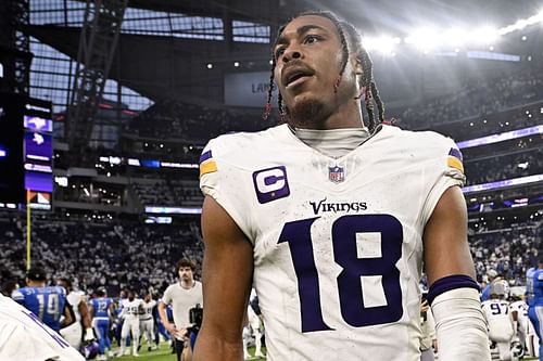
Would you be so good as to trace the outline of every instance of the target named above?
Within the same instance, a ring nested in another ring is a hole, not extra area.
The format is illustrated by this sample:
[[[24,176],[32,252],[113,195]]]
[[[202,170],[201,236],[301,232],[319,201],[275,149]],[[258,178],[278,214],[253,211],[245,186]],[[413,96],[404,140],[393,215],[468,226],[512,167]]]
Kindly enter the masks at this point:
[[[442,293],[432,302],[440,361],[490,361],[487,322],[475,288]]]

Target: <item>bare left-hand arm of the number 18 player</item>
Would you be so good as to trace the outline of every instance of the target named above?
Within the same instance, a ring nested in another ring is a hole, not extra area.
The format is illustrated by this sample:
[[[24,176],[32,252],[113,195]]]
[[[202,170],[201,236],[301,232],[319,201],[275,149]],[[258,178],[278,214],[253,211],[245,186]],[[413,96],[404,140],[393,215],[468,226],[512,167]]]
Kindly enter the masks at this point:
[[[205,312],[193,361],[239,361],[243,359],[241,335],[251,293],[253,248],[232,218],[210,196],[204,199],[202,233]]]

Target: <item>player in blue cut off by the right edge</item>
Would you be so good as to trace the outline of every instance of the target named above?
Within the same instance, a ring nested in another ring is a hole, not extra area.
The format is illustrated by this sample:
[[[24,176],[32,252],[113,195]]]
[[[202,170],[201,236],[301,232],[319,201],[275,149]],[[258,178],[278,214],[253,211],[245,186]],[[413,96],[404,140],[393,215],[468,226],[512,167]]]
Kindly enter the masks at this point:
[[[540,257],[539,268],[527,272],[528,317],[540,339],[540,361],[543,361],[543,257]]]

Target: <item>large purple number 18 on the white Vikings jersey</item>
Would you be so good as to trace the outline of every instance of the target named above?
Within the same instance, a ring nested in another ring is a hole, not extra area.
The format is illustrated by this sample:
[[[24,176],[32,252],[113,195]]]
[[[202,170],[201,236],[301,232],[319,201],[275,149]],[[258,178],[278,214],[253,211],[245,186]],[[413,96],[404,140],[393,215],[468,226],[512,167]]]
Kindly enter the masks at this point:
[[[290,247],[298,278],[302,332],[332,330],[323,319],[318,271],[313,255],[311,227],[318,217],[285,224],[278,243]],[[357,234],[379,233],[380,256],[358,258]],[[402,318],[400,271],[403,232],[400,221],[390,215],[350,215],[332,223],[333,259],[343,269],[338,275],[341,315],[354,327],[395,322]],[[380,276],[387,304],[365,307],[362,276]]]

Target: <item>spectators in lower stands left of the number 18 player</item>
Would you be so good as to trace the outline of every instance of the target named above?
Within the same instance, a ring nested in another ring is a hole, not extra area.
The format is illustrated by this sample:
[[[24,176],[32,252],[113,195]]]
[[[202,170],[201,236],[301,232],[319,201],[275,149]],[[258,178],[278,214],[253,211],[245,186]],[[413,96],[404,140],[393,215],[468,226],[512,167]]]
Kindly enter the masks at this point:
[[[2,280],[26,272],[26,229],[23,222],[0,222]],[[66,276],[81,291],[104,288],[116,295],[124,287],[160,291],[175,281],[173,265],[187,257],[201,265],[202,243],[195,221],[185,224],[136,222],[36,222],[31,231],[33,263],[50,281]]]

